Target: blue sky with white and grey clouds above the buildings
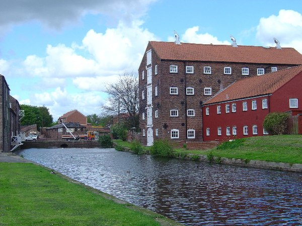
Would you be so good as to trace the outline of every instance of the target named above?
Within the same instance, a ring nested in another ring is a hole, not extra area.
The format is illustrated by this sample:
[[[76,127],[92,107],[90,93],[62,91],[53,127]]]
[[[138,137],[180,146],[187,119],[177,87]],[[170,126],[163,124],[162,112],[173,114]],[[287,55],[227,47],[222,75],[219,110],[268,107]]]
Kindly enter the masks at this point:
[[[1,0],[0,74],[20,103],[54,120],[100,114],[106,84],[136,72],[147,42],[293,47],[302,53],[300,0]]]

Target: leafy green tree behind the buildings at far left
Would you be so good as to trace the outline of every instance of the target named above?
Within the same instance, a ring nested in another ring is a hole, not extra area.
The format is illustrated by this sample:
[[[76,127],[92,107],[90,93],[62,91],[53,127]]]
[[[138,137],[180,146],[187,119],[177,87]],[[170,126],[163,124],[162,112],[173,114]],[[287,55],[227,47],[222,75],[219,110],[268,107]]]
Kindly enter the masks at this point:
[[[24,117],[21,120],[22,126],[34,124],[37,124],[37,128],[52,126],[53,118],[46,106],[32,106],[21,104],[20,108],[24,110]]]

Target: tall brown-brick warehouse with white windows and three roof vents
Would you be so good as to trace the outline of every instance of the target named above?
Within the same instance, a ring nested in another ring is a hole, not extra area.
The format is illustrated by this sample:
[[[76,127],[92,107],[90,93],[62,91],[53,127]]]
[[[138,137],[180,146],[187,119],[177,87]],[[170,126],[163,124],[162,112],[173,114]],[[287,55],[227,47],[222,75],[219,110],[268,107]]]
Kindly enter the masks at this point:
[[[293,48],[150,41],[138,69],[140,140],[203,141],[205,101],[236,80],[300,64]]]

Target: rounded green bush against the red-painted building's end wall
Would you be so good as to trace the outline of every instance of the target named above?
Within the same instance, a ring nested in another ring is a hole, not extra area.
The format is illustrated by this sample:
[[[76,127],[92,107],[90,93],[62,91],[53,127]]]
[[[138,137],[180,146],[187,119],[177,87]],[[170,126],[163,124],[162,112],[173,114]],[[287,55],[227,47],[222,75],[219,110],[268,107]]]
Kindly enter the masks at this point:
[[[263,128],[270,135],[288,134],[289,115],[285,112],[269,113],[263,122]]]

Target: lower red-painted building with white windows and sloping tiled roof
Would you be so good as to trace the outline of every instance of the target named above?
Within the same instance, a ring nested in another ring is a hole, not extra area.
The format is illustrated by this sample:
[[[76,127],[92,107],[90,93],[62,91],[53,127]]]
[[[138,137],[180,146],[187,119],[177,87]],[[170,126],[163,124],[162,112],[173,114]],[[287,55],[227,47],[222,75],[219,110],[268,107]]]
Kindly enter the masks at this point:
[[[263,122],[270,112],[302,119],[301,86],[302,66],[234,82],[203,104],[203,140],[266,135]]]

